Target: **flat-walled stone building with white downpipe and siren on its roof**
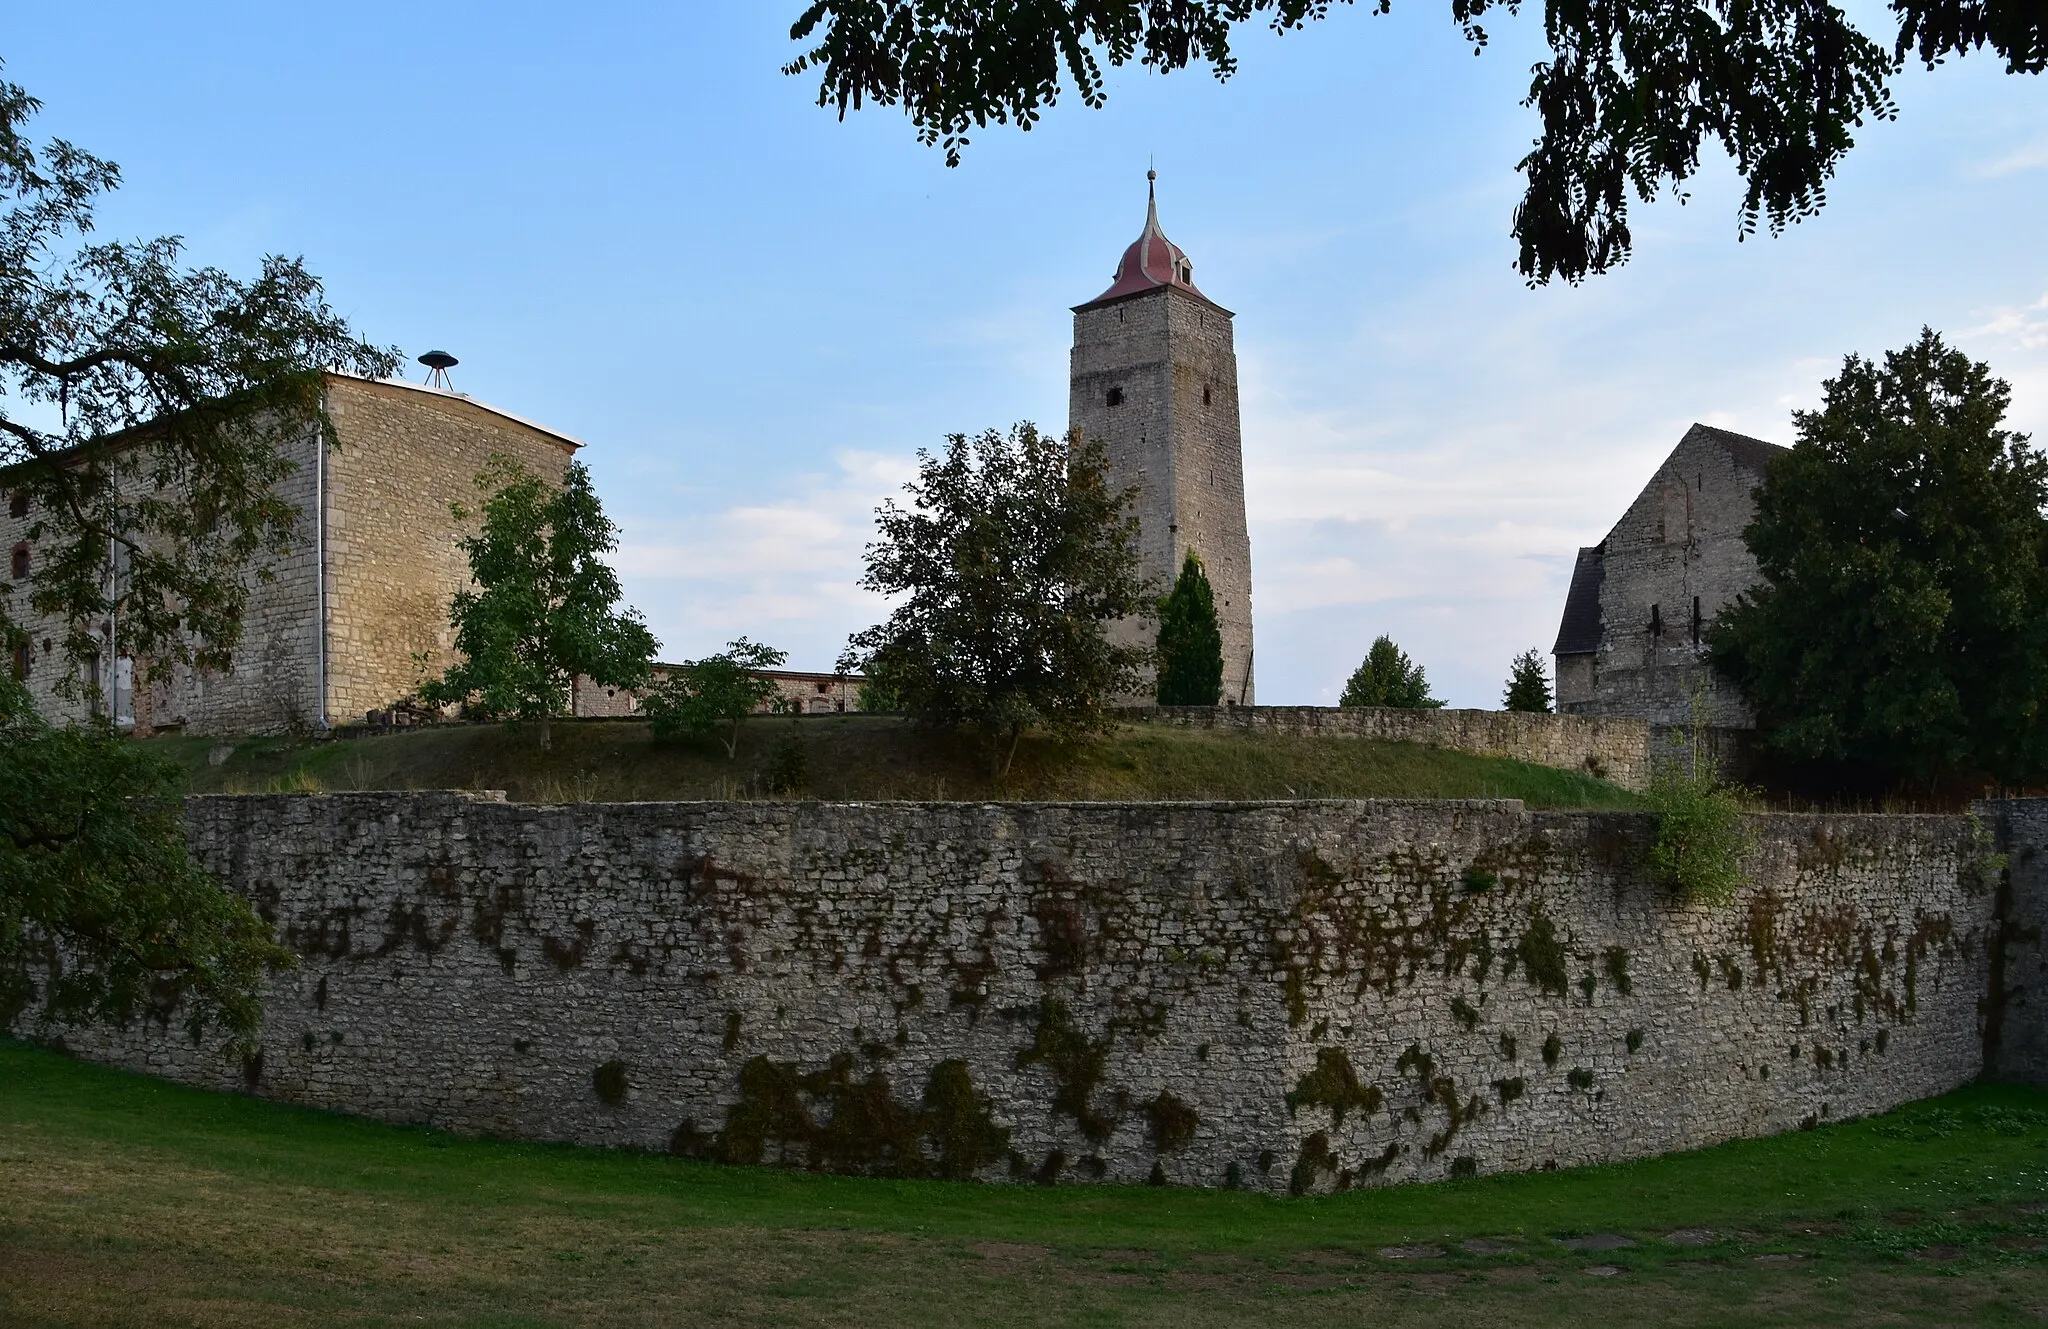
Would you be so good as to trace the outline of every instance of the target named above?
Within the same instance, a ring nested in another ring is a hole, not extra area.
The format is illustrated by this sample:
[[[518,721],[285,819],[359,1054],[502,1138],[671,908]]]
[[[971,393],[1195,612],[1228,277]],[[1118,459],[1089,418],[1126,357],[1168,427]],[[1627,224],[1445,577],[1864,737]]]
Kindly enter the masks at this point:
[[[559,483],[582,446],[467,393],[420,383],[330,373],[326,408],[332,446],[319,446],[309,428],[285,448],[295,469],[276,491],[299,508],[297,543],[270,565],[270,580],[248,569],[229,668],[176,668],[152,684],[150,661],[129,657],[119,620],[92,625],[104,647],[80,682],[96,684],[117,721],[141,733],[274,733],[360,723],[391,706],[455,661],[449,602],[471,586],[461,547],[469,524],[449,504],[475,502],[475,477],[494,453]],[[135,446],[147,446],[139,438]],[[33,528],[27,496],[10,494],[0,545],[10,549],[14,584],[37,561]],[[12,670],[45,715],[78,715],[86,702],[59,688],[72,668],[61,625],[29,616],[25,627],[31,641]]]

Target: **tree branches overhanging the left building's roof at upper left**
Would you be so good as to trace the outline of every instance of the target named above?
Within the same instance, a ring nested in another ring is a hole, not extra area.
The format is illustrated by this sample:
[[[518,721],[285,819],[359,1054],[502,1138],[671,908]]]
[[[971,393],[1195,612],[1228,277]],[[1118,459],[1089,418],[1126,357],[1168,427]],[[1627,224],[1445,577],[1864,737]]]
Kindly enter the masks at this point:
[[[297,258],[238,281],[180,268],[178,240],[86,244],[121,170],[31,143],[39,106],[0,82],[0,491],[27,502],[35,547],[29,582],[0,584],[0,639],[53,618],[76,666],[113,618],[158,676],[225,668],[252,580],[293,547],[287,446],[332,436],[322,371],[379,377],[397,356],[356,340]]]

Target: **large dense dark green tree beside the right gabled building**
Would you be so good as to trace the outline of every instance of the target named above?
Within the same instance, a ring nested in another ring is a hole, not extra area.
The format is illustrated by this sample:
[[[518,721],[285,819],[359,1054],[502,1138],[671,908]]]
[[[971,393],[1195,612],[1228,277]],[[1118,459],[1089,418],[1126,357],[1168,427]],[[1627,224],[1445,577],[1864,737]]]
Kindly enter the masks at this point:
[[[2048,774],[2048,459],[1931,330],[1847,356],[1743,532],[1763,582],[1710,629],[1780,754],[1890,778]]]

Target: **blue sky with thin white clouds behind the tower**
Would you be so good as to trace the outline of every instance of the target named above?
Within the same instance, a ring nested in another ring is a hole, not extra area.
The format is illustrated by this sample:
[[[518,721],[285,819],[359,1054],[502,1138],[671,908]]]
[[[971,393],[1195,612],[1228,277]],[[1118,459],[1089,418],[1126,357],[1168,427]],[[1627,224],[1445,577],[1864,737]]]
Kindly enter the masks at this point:
[[[1393,633],[1497,706],[1690,422],[1790,442],[1845,352],[1921,324],[2048,442],[2048,84],[1987,57],[1903,76],[1786,235],[1737,242],[1712,160],[1638,207],[1626,268],[1530,291],[1532,16],[1481,57],[1440,2],[1251,31],[1231,84],[1126,70],[946,170],[778,74],[799,8],[14,0],[0,55],[45,135],[121,162],[104,233],[305,254],[373,340],[584,438],[668,657],[745,633],[829,666],[881,612],[860,549],[915,448],[1065,424],[1067,307],[1137,235],[1147,160],[1237,311],[1260,700],[1333,702]]]

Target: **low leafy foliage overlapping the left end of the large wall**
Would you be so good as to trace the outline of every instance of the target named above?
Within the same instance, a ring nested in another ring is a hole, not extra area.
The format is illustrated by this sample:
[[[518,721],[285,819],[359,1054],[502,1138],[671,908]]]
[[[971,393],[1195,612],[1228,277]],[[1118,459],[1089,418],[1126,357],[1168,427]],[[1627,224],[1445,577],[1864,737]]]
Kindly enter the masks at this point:
[[[123,1022],[182,1003],[246,1046],[256,983],[293,962],[184,846],[184,774],[104,719],[55,727],[0,676],[0,1028]]]

